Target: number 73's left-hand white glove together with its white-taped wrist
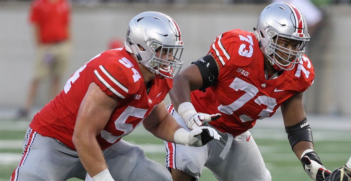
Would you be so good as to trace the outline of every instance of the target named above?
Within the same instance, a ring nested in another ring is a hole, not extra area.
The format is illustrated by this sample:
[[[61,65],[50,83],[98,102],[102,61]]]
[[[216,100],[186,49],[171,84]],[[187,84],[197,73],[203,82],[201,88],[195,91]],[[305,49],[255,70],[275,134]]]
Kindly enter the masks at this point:
[[[206,114],[196,112],[191,102],[183,102],[178,106],[178,114],[183,118],[189,129],[203,126],[206,123],[220,118],[221,114]]]

